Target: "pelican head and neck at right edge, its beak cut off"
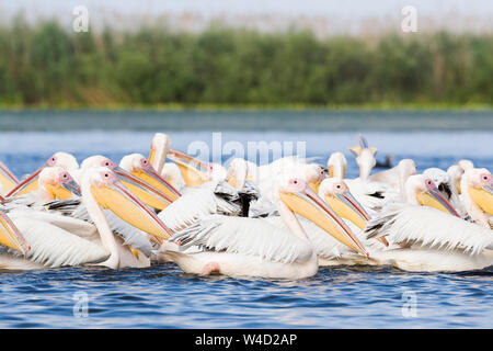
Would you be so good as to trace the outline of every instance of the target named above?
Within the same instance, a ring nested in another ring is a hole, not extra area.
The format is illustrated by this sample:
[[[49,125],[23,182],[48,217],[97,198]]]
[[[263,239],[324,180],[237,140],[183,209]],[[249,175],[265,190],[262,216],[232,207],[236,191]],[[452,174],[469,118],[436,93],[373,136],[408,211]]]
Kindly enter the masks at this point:
[[[467,170],[460,181],[467,213],[479,225],[491,228],[493,215],[493,176],[485,168]],[[493,233],[492,233],[493,234]]]

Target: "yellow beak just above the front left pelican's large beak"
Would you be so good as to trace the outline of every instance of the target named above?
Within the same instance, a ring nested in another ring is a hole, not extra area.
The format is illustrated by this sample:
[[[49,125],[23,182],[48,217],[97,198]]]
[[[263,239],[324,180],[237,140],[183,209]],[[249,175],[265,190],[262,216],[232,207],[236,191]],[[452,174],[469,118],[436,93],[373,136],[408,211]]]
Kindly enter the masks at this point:
[[[113,169],[113,172],[146,205],[162,211],[172,203],[172,200],[167,194],[123,168],[116,167]]]

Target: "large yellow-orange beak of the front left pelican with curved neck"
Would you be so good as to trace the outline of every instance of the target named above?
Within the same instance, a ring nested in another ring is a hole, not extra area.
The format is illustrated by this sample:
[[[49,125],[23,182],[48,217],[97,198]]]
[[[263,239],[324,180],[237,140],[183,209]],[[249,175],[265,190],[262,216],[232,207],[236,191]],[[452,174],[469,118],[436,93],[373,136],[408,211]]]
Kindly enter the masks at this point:
[[[171,230],[158,216],[134,195],[121,181],[101,188],[91,186],[91,193],[99,205],[111,210],[129,225],[157,238],[168,240]]]

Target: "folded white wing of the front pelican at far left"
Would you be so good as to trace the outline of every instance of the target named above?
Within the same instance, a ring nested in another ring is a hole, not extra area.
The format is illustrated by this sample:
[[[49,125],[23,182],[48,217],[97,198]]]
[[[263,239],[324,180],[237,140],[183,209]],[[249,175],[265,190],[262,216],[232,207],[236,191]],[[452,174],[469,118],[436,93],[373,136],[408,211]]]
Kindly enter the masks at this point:
[[[26,258],[45,267],[100,263],[110,257],[102,247],[49,223],[16,217],[12,222],[24,236],[31,249]]]

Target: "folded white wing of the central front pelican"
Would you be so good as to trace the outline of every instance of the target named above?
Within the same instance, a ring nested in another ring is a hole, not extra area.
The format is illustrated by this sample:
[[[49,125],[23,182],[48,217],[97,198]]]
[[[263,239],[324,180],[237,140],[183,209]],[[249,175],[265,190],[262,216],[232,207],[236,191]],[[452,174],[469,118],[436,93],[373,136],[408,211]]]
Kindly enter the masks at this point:
[[[306,261],[312,248],[289,231],[264,219],[210,216],[175,233],[170,239],[183,250],[198,246],[206,250],[261,257],[267,261]]]

